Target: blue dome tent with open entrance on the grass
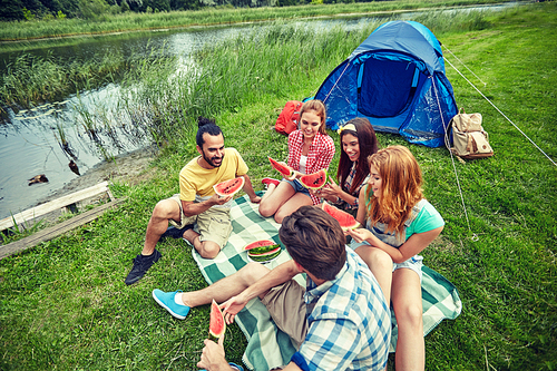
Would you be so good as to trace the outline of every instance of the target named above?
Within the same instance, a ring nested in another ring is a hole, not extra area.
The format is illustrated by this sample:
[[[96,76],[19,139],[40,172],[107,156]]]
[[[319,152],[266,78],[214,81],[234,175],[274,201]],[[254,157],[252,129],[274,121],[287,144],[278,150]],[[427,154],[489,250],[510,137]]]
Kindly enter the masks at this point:
[[[441,45],[414,21],[378,27],[314,98],[325,104],[326,126],[333,130],[365,117],[377,131],[398,133],[428,147],[444,145],[444,127],[458,114]]]

